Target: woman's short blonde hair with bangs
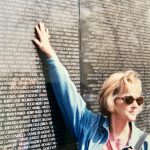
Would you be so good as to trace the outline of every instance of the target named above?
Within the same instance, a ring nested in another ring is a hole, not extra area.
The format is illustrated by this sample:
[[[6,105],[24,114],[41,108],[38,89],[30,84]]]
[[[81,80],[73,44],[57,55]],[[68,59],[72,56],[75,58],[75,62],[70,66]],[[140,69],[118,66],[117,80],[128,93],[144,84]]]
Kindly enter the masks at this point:
[[[142,94],[141,80],[137,72],[129,70],[126,72],[117,72],[112,74],[104,81],[99,97],[100,110],[103,115],[110,116],[115,109],[114,99],[122,93],[136,91]]]

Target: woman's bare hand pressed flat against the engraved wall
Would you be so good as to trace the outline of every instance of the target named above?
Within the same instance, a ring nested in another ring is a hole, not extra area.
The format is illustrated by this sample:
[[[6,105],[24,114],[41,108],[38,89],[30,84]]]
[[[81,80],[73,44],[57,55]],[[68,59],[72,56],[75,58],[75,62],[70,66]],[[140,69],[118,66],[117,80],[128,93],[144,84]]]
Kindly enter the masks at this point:
[[[33,39],[34,43],[41,49],[47,58],[51,58],[56,55],[49,42],[50,35],[48,28],[45,28],[45,25],[40,22],[35,26],[35,30],[37,33],[37,38]]]

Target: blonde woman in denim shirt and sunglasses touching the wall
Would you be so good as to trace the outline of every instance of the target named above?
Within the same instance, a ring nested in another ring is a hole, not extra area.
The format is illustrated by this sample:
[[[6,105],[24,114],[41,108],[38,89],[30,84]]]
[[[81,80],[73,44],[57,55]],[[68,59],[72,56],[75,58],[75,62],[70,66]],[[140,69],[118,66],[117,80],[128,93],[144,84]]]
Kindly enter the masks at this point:
[[[51,47],[48,29],[39,23],[35,30],[38,38],[33,41],[47,57],[49,78],[58,105],[79,143],[79,149],[134,149],[143,135],[133,123],[144,103],[138,74],[134,71],[112,74],[102,85],[102,114],[94,114],[86,108],[68,72]],[[141,149],[150,150],[150,136],[145,138]]]

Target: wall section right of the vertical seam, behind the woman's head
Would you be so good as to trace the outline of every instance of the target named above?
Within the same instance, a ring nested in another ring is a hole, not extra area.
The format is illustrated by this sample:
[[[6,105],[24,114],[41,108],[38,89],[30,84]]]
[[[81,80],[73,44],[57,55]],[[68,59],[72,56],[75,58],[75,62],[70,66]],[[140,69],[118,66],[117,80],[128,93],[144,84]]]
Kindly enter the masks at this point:
[[[133,69],[141,75],[145,106],[137,125],[150,132],[150,2],[80,2],[83,97],[99,111],[97,93],[110,74]]]

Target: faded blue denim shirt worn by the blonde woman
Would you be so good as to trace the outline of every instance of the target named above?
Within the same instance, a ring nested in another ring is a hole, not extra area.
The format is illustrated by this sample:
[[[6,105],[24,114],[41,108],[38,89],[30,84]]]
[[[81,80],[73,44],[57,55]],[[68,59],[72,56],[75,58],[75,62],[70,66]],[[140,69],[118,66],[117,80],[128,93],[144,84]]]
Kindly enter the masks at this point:
[[[57,56],[47,59],[47,64],[56,100],[66,124],[78,141],[79,150],[102,150],[109,136],[108,118],[87,109],[86,103]],[[143,132],[134,123],[131,124],[129,146],[134,148]],[[150,150],[150,136],[145,139],[141,150]]]

